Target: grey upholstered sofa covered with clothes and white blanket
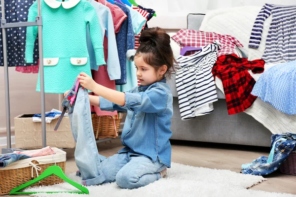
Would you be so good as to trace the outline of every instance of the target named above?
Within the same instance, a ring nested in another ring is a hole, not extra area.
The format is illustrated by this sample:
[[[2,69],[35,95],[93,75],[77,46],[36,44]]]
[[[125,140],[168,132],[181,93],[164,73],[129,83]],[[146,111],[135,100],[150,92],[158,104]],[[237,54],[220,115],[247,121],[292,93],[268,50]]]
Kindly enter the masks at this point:
[[[188,15],[188,29],[198,30],[203,14]],[[168,81],[174,102],[171,139],[241,144],[252,146],[270,146],[271,132],[252,116],[244,112],[228,115],[225,97],[217,89],[219,100],[214,102],[214,112],[190,120],[181,120],[175,75]]]

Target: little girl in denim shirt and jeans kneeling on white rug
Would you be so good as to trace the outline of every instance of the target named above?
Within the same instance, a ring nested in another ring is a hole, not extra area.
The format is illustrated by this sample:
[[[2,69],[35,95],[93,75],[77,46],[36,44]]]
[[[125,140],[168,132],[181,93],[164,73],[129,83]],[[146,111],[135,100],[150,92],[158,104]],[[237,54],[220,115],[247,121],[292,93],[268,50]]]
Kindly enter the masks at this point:
[[[81,86],[99,95],[89,96],[91,105],[107,111],[127,110],[121,135],[124,148],[100,159],[105,176],[101,182],[116,181],[128,189],[159,180],[171,165],[173,97],[165,79],[175,62],[170,36],[161,28],[149,28],[141,34],[140,43],[135,66],[141,86],[123,93],[97,84],[85,73],[77,77]],[[99,184],[93,180],[83,183]]]

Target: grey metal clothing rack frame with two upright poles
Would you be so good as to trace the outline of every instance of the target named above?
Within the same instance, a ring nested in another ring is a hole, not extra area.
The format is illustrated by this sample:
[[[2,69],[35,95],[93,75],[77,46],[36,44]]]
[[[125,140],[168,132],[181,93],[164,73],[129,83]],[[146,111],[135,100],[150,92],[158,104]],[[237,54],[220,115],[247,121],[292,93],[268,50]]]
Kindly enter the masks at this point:
[[[40,0],[37,0],[37,6],[38,6],[38,14],[37,14],[38,16],[36,17],[35,22],[6,23],[5,2],[4,2],[4,0],[1,0],[1,11],[2,11],[1,29],[2,29],[2,39],[3,39],[3,63],[4,63],[5,105],[6,105],[6,107],[5,107],[6,108],[6,130],[7,130],[7,149],[2,149],[2,154],[13,152],[13,149],[11,149],[11,131],[10,131],[9,78],[8,78],[7,42],[6,42],[6,29],[7,28],[38,26],[42,146],[46,147],[42,17],[41,17],[41,2],[40,2]]]

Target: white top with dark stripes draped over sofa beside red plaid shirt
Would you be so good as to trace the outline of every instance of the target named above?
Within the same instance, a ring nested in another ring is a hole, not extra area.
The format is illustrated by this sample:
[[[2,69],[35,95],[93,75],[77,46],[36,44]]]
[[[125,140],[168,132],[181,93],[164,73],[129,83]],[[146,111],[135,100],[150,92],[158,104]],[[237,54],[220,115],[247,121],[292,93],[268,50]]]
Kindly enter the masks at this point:
[[[214,41],[202,50],[177,59],[176,71],[181,119],[190,119],[211,113],[213,102],[218,100],[212,67],[217,61],[220,43]]]

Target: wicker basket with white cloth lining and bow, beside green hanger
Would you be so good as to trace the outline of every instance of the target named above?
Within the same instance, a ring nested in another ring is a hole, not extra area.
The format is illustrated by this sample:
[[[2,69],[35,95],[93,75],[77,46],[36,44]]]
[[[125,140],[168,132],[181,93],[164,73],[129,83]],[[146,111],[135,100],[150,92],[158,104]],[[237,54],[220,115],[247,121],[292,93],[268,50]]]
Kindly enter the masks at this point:
[[[57,148],[52,148],[53,150],[59,150]],[[10,191],[24,183],[27,183],[32,180],[32,175],[33,179],[40,175],[46,168],[48,168],[51,165],[58,165],[62,168],[62,170],[65,172],[65,164],[66,164],[66,152],[59,150],[58,152],[62,153],[64,156],[62,157],[62,162],[59,157],[56,157],[54,159],[51,155],[50,156],[42,156],[42,157],[36,157],[36,158],[29,158],[25,160],[19,160],[13,164],[8,165],[7,167],[0,168],[0,195],[7,195],[10,193]],[[34,160],[35,159],[35,160]],[[53,163],[47,163],[48,161],[53,162]],[[19,164],[22,163],[22,166],[28,165],[29,163],[36,164],[37,167],[40,167],[40,170],[37,170],[34,166],[30,165],[27,167],[20,167],[18,168]],[[57,163],[55,163],[57,162]],[[28,163],[28,164],[27,164]],[[11,167],[12,165],[12,167]],[[5,169],[8,168],[8,169]],[[54,185],[57,183],[63,183],[64,180],[57,176],[49,176],[46,179],[43,179],[40,181],[40,183],[36,183],[33,186],[39,186],[39,185]]]

